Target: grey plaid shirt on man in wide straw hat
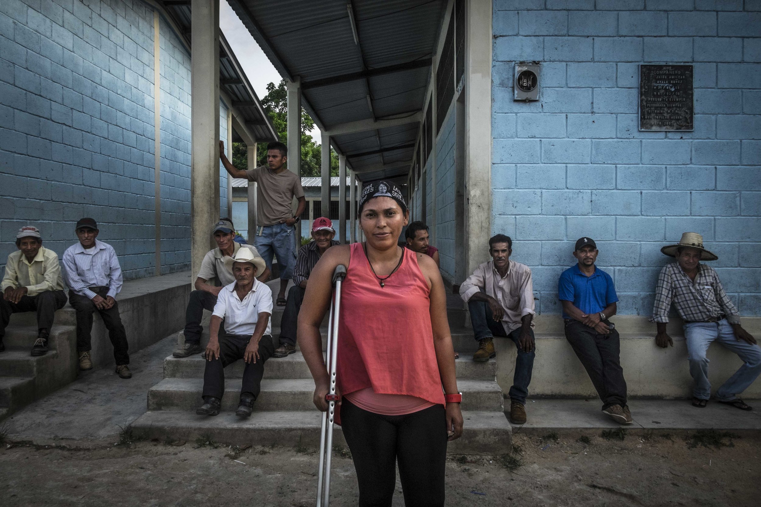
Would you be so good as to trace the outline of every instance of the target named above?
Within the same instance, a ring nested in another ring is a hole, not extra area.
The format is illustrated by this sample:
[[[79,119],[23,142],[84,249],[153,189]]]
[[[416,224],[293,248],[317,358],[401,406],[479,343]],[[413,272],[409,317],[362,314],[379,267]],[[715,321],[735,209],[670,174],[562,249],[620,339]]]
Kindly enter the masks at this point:
[[[685,322],[705,322],[722,313],[733,324],[740,323],[740,313],[724,293],[721,281],[713,268],[698,265],[695,281],[690,280],[677,262],[665,265],[658,274],[655,287],[655,304],[651,322],[668,322],[668,311],[673,301]]]

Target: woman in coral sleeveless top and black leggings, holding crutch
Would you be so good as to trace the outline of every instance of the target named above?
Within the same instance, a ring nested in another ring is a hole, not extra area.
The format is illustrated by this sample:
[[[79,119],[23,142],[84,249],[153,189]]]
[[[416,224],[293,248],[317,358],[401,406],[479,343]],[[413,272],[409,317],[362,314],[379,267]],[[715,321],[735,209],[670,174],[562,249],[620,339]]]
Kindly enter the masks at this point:
[[[332,299],[333,272],[345,265],[336,376],[358,503],[391,505],[398,463],[406,505],[444,505],[447,439],[463,430],[444,284],[431,258],[397,246],[408,214],[396,185],[367,185],[359,215],[367,241],[323,254],[298,317],[314,404],[327,409],[330,377],[320,323]]]

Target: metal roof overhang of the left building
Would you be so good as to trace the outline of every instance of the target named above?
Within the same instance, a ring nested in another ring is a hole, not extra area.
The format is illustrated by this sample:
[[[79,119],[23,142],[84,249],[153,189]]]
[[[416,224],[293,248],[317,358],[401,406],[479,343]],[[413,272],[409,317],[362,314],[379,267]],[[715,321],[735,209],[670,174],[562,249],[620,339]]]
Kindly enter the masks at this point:
[[[184,37],[188,47],[190,46],[190,3],[183,0],[162,0],[161,3],[172,17],[173,21],[183,30],[180,35]],[[251,87],[243,68],[237,61],[235,53],[224,38],[224,33],[219,33],[219,89],[232,100],[231,106],[237,109],[244,117],[246,128],[259,142],[279,141],[277,131],[272,126],[272,119],[264,110],[259,97]],[[237,132],[233,135],[234,141],[240,141]]]

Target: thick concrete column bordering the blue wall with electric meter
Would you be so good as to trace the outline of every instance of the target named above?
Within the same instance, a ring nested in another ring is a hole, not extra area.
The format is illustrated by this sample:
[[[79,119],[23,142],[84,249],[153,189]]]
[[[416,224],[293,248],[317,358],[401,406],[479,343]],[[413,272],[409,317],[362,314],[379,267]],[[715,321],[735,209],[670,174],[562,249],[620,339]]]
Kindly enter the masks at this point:
[[[470,0],[465,43],[466,273],[489,257],[492,229],[492,0]]]

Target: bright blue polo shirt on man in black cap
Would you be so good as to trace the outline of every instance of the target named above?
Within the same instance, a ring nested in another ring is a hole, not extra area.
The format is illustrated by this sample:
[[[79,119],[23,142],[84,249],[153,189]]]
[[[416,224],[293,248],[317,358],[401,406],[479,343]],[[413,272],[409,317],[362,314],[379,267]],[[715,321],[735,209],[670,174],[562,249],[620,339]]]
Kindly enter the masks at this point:
[[[602,312],[610,303],[616,303],[618,296],[610,274],[595,266],[592,276],[587,277],[577,264],[560,275],[558,299],[571,301],[573,306],[591,315]],[[563,312],[563,318],[571,318],[571,315]]]

